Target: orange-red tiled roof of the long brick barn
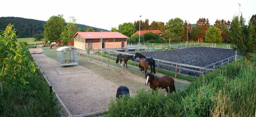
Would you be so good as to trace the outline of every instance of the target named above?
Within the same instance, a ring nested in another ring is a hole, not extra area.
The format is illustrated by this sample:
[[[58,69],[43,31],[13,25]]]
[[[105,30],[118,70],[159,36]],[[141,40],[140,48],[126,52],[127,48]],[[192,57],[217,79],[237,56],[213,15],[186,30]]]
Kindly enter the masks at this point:
[[[127,36],[121,34],[120,32],[77,32],[76,35],[80,35],[83,39],[110,39],[110,38],[128,38]],[[101,36],[101,37],[99,37]]]

